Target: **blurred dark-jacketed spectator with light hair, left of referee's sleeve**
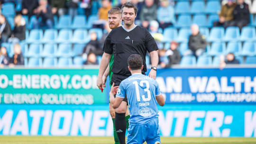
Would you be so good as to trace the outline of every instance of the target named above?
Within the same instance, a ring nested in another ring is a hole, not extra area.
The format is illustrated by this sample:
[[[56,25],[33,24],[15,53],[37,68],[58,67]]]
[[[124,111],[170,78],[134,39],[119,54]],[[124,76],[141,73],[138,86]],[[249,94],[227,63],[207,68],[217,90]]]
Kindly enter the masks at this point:
[[[85,45],[82,51],[82,57],[86,59],[86,57],[90,54],[96,54],[96,55],[102,55],[103,50],[102,47],[100,47],[101,44],[97,40],[97,34],[95,32],[91,32],[91,41]]]

